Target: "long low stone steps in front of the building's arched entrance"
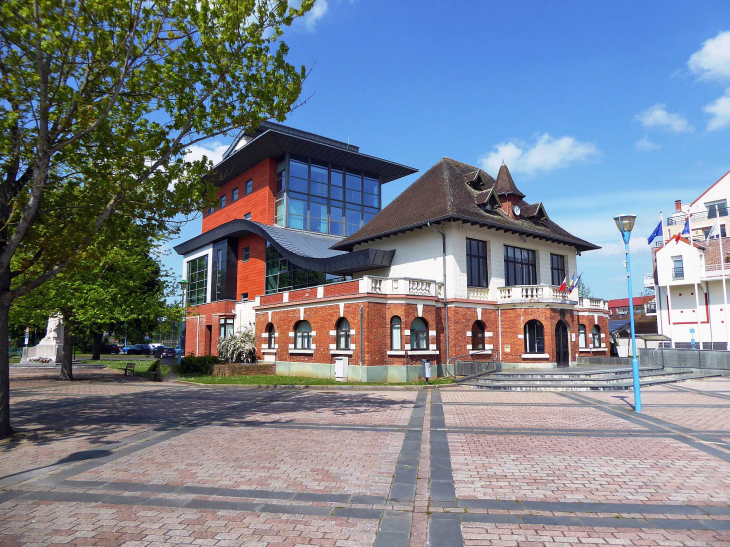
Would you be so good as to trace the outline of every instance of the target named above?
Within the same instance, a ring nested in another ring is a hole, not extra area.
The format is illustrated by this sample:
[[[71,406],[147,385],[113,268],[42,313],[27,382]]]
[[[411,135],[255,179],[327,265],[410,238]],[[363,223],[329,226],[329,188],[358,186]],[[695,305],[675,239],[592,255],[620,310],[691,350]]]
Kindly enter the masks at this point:
[[[661,378],[655,379],[642,378],[641,387],[683,382],[685,380],[698,380],[702,378],[718,377],[722,377],[722,374],[695,371],[690,374],[674,374],[671,376],[663,376]],[[573,382],[566,380],[554,382],[503,381],[493,384],[484,384],[482,382],[468,382],[461,385],[476,389],[489,389],[494,391],[610,391],[632,390],[634,388],[633,379],[621,380],[620,382],[604,382],[600,380],[596,380],[593,382]]]

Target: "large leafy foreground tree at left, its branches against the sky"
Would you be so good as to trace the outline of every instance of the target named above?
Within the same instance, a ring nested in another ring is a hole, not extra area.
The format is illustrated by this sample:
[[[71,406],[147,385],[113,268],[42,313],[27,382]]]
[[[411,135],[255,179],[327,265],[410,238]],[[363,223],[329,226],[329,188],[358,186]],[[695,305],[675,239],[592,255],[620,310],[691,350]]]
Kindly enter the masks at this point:
[[[0,4],[0,438],[13,301],[129,219],[152,237],[212,200],[187,148],[296,108],[306,72],[281,37],[313,2]]]

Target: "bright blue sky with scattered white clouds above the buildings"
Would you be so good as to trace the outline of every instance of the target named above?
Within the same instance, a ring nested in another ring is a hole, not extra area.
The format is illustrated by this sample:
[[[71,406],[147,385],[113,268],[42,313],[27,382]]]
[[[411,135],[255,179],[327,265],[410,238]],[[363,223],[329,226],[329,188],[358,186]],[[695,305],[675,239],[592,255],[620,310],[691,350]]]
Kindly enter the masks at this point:
[[[386,184],[383,206],[443,156],[495,177],[504,160],[526,201],[602,247],[578,258],[596,297],[627,295],[615,215],[637,215],[637,295],[660,211],[730,170],[725,0],[317,0],[283,39],[311,69],[287,125],[419,170]],[[229,143],[192,152],[217,161]]]

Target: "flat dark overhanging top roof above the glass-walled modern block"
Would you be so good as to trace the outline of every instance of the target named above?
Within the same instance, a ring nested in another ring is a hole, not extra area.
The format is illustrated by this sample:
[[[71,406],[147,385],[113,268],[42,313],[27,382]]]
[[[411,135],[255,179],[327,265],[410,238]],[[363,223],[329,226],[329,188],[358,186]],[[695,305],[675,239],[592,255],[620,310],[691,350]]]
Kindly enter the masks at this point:
[[[244,139],[245,144],[236,149],[241,139]],[[383,183],[418,172],[413,167],[363,154],[354,145],[264,122],[254,131],[239,134],[223,160],[208,172],[206,179],[221,186],[263,160],[281,157],[286,152],[365,171],[380,177]]]

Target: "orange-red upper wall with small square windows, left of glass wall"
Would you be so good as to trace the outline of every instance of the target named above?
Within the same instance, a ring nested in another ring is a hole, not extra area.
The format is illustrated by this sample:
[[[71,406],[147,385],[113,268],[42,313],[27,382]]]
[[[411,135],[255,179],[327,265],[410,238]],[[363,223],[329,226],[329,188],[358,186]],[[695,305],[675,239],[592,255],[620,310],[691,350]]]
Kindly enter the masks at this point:
[[[244,196],[246,181],[253,180],[252,192]],[[276,182],[276,160],[268,158],[244,171],[232,181],[225,183],[218,191],[218,197],[226,196],[226,206],[213,214],[203,214],[203,233],[251,213],[251,220],[264,224],[274,223],[274,190]],[[231,203],[231,192],[238,188],[238,201]]]

